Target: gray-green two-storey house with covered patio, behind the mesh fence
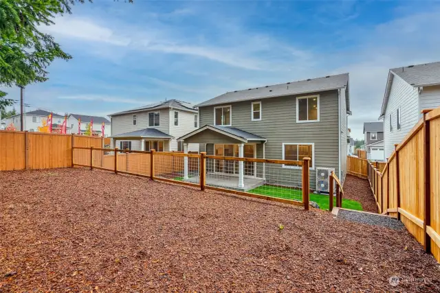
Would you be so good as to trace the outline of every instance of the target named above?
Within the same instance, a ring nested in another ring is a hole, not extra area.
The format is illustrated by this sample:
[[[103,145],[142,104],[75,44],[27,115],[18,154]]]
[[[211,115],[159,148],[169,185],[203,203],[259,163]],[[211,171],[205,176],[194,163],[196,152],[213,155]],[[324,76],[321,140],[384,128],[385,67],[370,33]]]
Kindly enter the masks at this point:
[[[179,141],[200,143],[201,151],[208,155],[294,161],[308,156],[312,189],[318,167],[334,168],[344,180],[350,113],[348,73],[232,91],[197,106],[201,128]],[[219,161],[211,168],[212,172],[239,176],[241,188],[243,176],[287,178],[292,174],[289,171],[298,167],[276,165],[269,172],[259,163],[228,165]]]

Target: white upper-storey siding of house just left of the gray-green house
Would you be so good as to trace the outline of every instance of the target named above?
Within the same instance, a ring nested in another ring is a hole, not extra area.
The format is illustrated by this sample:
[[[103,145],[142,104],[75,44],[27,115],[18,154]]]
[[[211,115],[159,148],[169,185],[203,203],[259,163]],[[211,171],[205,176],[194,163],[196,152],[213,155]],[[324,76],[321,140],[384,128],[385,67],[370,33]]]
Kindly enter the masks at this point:
[[[160,126],[154,128],[168,134],[168,109],[161,109],[159,111]],[[148,111],[136,113],[136,125],[133,125],[133,114],[111,117],[111,135],[148,128],[148,113]]]

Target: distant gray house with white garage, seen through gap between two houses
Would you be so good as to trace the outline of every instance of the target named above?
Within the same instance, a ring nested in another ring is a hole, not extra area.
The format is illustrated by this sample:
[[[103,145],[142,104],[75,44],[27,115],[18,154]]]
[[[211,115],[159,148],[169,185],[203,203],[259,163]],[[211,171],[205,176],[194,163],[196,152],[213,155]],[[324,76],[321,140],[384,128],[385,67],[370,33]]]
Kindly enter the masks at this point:
[[[384,161],[384,123],[364,123],[364,147],[366,159]]]

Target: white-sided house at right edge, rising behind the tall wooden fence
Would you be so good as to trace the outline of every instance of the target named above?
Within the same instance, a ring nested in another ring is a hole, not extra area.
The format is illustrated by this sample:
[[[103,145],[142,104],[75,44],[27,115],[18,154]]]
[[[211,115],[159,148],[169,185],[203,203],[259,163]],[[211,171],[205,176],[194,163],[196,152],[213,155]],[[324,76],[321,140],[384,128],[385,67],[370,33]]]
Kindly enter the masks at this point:
[[[390,69],[379,119],[384,120],[385,158],[417,121],[421,110],[440,106],[440,62]]]

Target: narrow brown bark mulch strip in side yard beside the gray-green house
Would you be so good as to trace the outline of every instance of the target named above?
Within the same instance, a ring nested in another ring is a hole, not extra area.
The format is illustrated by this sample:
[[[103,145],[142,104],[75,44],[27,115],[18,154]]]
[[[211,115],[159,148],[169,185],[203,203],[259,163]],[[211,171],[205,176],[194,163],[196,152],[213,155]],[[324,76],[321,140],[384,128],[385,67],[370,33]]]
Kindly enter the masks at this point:
[[[344,181],[344,198],[357,200],[362,204],[364,211],[377,213],[377,205],[369,180],[347,175]]]

